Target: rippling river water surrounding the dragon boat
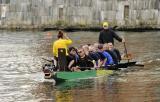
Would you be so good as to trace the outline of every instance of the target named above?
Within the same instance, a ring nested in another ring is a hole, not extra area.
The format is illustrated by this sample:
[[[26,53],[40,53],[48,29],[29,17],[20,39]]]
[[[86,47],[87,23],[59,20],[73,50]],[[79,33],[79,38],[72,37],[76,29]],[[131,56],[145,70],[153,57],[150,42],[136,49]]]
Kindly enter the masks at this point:
[[[0,31],[0,102],[159,102],[160,32],[117,32],[145,67],[54,85],[43,78],[42,58],[52,58],[56,31]],[[98,32],[72,32],[73,46],[97,42]],[[123,44],[116,47],[124,52]]]

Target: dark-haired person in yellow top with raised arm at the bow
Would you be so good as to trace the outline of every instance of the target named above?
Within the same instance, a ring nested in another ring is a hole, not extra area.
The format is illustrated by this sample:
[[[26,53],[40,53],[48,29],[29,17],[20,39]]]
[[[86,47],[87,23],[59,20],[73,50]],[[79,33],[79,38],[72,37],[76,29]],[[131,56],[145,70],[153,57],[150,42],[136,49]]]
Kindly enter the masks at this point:
[[[53,55],[54,57],[58,57],[58,49],[64,48],[66,50],[66,55],[68,55],[68,45],[72,44],[72,40],[63,33],[62,31],[58,32],[57,35],[58,40],[53,43]]]

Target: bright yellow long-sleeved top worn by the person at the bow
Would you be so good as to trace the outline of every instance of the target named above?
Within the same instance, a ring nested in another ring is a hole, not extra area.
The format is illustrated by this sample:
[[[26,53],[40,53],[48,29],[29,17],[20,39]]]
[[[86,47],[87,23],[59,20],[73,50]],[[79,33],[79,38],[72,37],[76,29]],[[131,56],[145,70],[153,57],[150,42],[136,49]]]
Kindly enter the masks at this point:
[[[65,48],[66,55],[68,55],[67,46],[72,44],[71,39],[58,39],[53,43],[53,55],[58,57],[58,49]]]

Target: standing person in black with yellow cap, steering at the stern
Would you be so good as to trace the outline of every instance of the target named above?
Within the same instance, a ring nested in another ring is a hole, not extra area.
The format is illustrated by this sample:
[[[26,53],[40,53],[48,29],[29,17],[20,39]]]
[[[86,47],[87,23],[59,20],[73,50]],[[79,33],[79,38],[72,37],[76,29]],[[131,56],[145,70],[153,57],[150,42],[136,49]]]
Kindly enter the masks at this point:
[[[112,29],[109,28],[108,22],[103,23],[103,30],[99,34],[99,43],[112,43],[114,45],[114,38],[119,42],[125,42],[124,38],[119,37]]]

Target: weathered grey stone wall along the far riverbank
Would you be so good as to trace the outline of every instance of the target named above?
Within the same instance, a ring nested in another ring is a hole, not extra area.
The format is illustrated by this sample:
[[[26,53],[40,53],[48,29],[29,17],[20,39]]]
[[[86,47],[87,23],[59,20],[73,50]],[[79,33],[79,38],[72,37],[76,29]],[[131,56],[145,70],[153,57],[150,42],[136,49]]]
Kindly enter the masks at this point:
[[[0,0],[0,29],[160,29],[160,0]]]

